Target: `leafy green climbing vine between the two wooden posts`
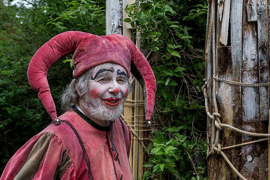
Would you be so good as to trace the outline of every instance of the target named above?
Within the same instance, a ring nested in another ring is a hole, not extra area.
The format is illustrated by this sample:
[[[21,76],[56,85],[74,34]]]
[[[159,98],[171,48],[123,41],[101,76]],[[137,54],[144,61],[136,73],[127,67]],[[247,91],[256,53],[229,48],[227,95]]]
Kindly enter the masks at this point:
[[[206,122],[201,87],[204,71],[206,0],[136,1],[126,6],[140,32],[156,76],[155,119],[164,124],[148,145],[143,179],[205,179]],[[206,178],[207,179],[207,178]]]

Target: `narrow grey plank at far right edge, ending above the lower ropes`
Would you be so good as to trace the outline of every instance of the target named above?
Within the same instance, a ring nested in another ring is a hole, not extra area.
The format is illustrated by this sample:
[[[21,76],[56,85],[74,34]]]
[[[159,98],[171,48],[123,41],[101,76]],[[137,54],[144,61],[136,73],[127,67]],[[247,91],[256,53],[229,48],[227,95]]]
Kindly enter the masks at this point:
[[[258,14],[258,58],[259,58],[259,83],[269,82],[269,52],[268,52],[268,20],[267,3],[257,0]],[[252,57],[251,57],[252,58]],[[262,86],[260,91],[261,120],[269,120],[269,86]]]

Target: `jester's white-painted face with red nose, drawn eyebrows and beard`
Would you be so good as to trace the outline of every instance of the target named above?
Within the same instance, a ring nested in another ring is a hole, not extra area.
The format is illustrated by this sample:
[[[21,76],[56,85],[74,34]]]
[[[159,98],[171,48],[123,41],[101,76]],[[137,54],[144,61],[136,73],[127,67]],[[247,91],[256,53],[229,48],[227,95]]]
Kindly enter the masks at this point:
[[[98,68],[91,73],[89,89],[82,104],[88,114],[99,120],[112,121],[123,112],[128,95],[126,70],[118,65]]]

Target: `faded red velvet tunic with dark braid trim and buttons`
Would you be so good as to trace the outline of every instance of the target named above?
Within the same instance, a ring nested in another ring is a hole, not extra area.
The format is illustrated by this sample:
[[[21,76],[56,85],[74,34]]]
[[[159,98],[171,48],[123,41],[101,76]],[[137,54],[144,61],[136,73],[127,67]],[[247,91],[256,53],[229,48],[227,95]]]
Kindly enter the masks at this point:
[[[50,124],[15,153],[0,180],[133,179],[128,159],[131,135],[123,120],[113,123],[113,151],[110,128],[93,123],[78,110],[59,119],[60,125]]]

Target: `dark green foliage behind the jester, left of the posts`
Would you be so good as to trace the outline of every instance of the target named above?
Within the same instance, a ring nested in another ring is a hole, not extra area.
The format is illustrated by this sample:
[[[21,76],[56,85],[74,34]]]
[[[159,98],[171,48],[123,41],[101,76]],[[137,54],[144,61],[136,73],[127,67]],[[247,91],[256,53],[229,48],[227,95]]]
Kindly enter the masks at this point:
[[[29,85],[27,67],[39,47],[59,32],[67,30],[59,29],[53,22],[61,22],[68,30],[105,34],[104,1],[32,2],[33,6],[28,8],[23,5],[0,6],[0,172],[23,144],[52,121],[38,99],[38,93]],[[83,5],[83,10],[85,6],[88,8],[87,19],[86,15],[71,12],[72,8],[75,11],[78,2]],[[95,12],[97,9],[100,9],[100,12]],[[68,10],[76,18],[64,19],[61,16],[62,19],[56,19]],[[96,16],[90,17],[93,14]],[[78,21],[79,16],[85,20]],[[52,22],[52,18],[56,20]],[[50,21],[51,23],[46,24]],[[63,61],[59,61],[47,74],[58,113],[61,110],[57,97],[73,78],[70,68],[71,59],[72,56],[68,56]]]

